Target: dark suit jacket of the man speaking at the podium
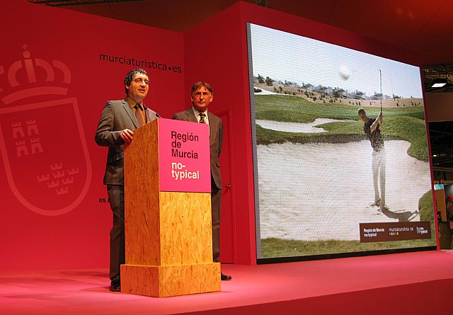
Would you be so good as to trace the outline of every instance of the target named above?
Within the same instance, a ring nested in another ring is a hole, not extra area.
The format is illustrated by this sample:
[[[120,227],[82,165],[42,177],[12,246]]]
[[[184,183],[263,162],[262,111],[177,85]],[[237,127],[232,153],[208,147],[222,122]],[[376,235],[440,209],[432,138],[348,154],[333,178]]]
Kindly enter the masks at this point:
[[[146,109],[147,122],[156,119],[156,112]],[[94,139],[100,146],[108,147],[104,185],[124,185],[122,130],[136,130],[137,118],[126,100],[108,101],[101,114]]]

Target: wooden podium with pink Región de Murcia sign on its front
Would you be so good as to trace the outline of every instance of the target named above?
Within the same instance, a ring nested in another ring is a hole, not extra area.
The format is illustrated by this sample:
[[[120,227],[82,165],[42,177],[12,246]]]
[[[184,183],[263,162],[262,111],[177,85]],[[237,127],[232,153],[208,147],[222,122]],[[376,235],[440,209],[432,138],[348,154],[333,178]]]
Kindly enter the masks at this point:
[[[197,192],[210,189],[209,129],[199,125],[160,118],[135,130],[125,148],[122,292],[169,297],[220,290],[210,190]],[[206,159],[207,170],[200,166]]]

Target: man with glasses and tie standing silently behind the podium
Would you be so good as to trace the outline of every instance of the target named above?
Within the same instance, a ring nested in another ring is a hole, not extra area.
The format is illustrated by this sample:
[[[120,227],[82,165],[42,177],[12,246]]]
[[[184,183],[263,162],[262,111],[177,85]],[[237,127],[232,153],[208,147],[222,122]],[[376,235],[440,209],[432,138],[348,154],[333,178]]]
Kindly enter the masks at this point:
[[[224,126],[222,120],[208,112],[214,91],[205,82],[192,86],[190,101],[193,106],[188,110],[173,115],[173,119],[188,122],[199,122],[210,125],[210,159],[211,159],[211,216],[212,216],[212,258],[219,262],[220,256],[220,202],[222,200],[222,177],[220,175],[219,156],[222,151]],[[222,275],[222,280],[231,280],[231,276]]]

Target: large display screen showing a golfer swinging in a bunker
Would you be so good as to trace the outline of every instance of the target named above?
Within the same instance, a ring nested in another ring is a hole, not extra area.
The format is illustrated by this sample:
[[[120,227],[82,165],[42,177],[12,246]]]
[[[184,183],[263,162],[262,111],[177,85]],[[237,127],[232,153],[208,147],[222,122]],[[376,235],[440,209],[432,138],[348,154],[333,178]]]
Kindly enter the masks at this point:
[[[258,263],[435,248],[420,69],[247,27]]]

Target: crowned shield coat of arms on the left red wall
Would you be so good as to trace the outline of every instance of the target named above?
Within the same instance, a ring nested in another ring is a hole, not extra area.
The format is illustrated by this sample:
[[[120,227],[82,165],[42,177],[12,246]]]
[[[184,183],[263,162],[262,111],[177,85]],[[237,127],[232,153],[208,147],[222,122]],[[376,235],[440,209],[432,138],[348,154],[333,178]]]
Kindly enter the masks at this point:
[[[91,161],[64,62],[22,57],[0,64],[0,149],[9,187],[28,210],[55,216],[84,199]]]

